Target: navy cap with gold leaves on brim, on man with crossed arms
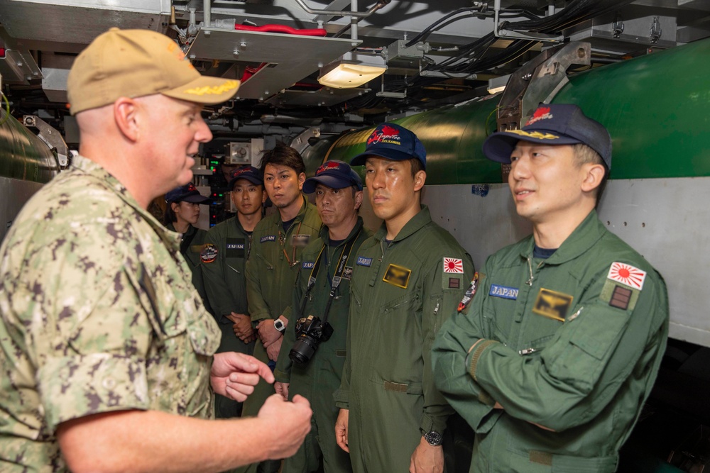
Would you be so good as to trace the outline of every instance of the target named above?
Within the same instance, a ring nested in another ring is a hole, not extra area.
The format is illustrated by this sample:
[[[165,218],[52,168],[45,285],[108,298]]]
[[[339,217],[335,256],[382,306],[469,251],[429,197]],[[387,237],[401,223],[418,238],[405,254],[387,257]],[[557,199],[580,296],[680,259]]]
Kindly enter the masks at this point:
[[[582,113],[574,104],[541,104],[520,130],[498,131],[484,141],[484,155],[489,160],[510,163],[510,153],[518,141],[545,145],[583,143],[599,153],[611,169],[611,136],[596,120]]]

